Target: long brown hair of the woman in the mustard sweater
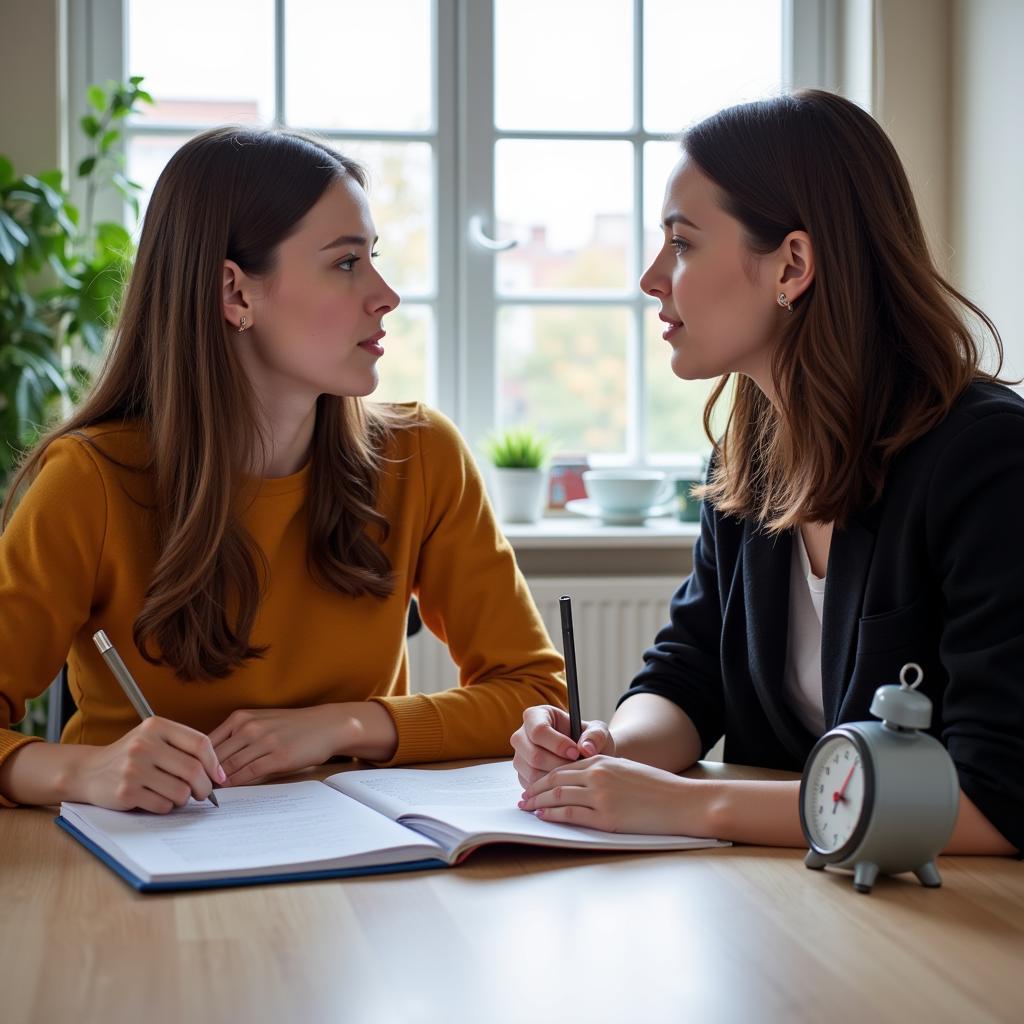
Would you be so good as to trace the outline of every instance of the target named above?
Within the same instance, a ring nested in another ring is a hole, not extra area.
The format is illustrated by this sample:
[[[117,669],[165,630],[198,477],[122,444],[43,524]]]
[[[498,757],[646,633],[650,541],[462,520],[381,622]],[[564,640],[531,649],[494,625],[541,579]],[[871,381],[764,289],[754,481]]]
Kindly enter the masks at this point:
[[[358,164],[295,132],[215,128],[181,146],[154,189],[95,386],[11,482],[5,524],[55,439],[112,421],[141,427],[148,458],[137,468],[152,476],[159,554],[133,637],[147,660],[182,679],[223,678],[266,650],[250,644],[262,555],[238,518],[251,471],[243,460],[265,458],[266,442],[223,315],[223,261],[271,272],[279,244],[344,176],[366,187]],[[326,589],[393,589],[379,544],[388,524],[375,502],[381,450],[399,422],[358,398],[317,399],[307,565]]]

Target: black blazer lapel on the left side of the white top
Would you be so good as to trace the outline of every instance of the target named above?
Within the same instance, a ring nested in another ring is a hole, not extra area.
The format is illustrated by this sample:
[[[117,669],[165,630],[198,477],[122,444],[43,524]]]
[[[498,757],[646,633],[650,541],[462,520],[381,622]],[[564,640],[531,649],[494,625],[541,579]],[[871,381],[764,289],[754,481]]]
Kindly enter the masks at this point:
[[[790,627],[790,534],[767,537],[748,523],[743,530],[743,604],[751,681],[779,741],[799,761],[808,733],[782,692]]]

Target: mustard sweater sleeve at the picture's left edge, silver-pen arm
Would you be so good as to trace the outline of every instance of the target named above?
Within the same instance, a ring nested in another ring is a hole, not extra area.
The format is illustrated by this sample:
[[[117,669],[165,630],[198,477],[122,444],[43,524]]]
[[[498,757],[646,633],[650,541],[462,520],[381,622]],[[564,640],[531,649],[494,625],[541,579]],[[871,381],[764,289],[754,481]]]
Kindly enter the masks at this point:
[[[105,519],[87,446],[53,441],[0,536],[0,764],[32,741],[10,726],[60,671],[89,617]]]

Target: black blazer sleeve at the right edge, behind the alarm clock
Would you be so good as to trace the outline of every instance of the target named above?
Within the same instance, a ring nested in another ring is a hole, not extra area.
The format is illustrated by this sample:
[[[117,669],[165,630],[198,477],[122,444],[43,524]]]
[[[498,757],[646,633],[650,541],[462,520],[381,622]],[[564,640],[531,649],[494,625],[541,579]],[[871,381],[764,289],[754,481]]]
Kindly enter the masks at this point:
[[[962,430],[936,464],[928,509],[945,609],[942,741],[964,793],[1024,850],[1024,413]]]

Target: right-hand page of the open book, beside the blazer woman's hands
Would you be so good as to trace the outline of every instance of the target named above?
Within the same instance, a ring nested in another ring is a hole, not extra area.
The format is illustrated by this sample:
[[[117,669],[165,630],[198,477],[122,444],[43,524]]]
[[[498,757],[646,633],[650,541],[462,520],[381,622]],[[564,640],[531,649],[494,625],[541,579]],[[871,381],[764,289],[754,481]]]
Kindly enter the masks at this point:
[[[511,761],[434,771],[381,768],[341,772],[327,782],[450,850],[467,839],[615,850],[718,845],[714,840],[686,836],[603,833],[544,821],[516,806],[522,786]]]

